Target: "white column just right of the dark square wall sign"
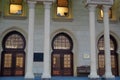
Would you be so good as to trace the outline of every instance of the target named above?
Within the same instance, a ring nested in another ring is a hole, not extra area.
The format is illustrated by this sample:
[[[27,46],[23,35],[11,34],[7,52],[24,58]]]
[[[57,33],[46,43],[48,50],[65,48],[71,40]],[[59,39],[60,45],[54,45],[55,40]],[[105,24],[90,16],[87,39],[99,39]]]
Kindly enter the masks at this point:
[[[51,78],[50,74],[50,8],[52,2],[44,3],[44,72],[42,78]]]

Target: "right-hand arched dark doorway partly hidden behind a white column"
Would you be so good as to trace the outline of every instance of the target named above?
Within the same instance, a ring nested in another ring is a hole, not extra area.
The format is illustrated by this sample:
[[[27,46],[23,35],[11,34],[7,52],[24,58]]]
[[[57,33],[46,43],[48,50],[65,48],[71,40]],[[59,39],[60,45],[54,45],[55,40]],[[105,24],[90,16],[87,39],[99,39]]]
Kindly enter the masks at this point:
[[[104,36],[98,40],[98,74],[103,76],[105,74],[105,53],[104,53]],[[110,35],[110,52],[111,52],[111,71],[112,74],[118,76],[118,54],[117,42],[115,38]]]

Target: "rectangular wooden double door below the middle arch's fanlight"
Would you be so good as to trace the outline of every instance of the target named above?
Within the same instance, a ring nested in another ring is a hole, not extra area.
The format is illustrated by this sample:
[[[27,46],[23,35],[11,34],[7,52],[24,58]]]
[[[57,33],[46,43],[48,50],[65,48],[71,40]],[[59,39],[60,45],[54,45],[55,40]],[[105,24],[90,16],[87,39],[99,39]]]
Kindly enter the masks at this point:
[[[73,55],[72,54],[52,54],[52,75],[72,76],[73,75]]]

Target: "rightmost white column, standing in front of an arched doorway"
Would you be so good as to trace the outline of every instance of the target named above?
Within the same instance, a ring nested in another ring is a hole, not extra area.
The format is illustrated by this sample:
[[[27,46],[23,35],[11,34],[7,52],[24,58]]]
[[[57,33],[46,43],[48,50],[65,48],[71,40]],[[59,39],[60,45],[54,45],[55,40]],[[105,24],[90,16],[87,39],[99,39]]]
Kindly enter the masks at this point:
[[[111,53],[110,53],[110,33],[109,33],[109,8],[111,6],[103,5],[104,11],[104,45],[105,45],[105,77],[113,78],[111,72]]]

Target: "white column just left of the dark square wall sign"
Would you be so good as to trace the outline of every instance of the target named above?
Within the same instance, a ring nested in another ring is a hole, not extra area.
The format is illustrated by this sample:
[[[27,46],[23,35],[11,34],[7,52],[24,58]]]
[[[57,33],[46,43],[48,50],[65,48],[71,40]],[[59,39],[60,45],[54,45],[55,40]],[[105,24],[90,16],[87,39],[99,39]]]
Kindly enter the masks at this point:
[[[28,1],[29,6],[29,22],[28,22],[28,51],[26,55],[26,73],[25,78],[34,78],[33,74],[33,40],[34,40],[34,16],[35,1]]]

